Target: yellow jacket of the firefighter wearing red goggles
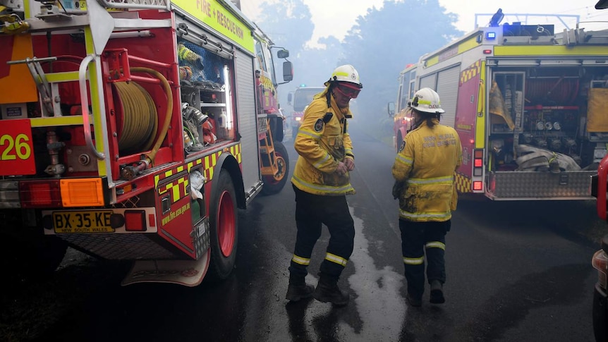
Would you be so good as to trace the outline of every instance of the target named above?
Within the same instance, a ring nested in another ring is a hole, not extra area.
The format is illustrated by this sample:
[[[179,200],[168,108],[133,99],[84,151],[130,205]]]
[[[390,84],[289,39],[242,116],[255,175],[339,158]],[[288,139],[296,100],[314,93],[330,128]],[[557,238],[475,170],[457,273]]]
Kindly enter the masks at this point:
[[[339,176],[335,171],[339,161],[355,159],[346,123],[346,118],[352,114],[348,108],[340,109],[334,97],[331,97],[328,107],[327,92],[328,88],[315,95],[304,111],[300,130],[293,142],[300,156],[291,183],[314,195],[351,195],[355,189],[348,172]]]

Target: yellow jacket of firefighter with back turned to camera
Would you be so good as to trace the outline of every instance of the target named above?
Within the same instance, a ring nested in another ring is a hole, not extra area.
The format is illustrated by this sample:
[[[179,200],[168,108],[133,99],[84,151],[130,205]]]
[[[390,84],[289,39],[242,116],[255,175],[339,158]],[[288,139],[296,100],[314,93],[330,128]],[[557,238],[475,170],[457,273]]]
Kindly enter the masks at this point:
[[[462,146],[454,128],[422,121],[401,142],[393,176],[401,183],[399,217],[408,221],[447,221],[456,210],[455,171]]]

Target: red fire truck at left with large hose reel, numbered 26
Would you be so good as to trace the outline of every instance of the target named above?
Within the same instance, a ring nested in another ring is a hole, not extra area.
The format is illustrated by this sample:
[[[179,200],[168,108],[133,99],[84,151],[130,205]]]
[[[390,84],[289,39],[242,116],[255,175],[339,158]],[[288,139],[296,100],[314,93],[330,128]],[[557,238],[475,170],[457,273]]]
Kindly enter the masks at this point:
[[[0,5],[1,238],[37,271],[69,245],[125,285],[226,278],[237,208],[288,177],[272,42],[227,0]]]

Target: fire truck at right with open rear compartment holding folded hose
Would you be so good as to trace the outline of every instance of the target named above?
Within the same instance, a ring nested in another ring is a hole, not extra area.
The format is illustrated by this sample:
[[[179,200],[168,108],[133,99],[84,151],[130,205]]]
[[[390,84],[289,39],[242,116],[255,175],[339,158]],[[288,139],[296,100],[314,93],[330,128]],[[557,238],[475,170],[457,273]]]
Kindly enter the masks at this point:
[[[492,200],[588,200],[607,154],[608,31],[554,25],[478,28],[401,72],[395,145],[415,90],[439,93],[463,146],[460,193]]]

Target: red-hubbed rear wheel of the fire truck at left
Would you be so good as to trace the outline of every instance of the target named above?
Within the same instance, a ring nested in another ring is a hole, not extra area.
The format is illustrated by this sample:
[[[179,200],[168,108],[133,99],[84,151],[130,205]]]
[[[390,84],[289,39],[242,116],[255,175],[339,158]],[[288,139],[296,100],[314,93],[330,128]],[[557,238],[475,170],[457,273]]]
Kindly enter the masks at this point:
[[[217,177],[217,188],[209,204],[209,226],[210,275],[213,279],[223,280],[228,278],[234,268],[238,243],[236,191],[230,173],[225,169],[221,169]]]

